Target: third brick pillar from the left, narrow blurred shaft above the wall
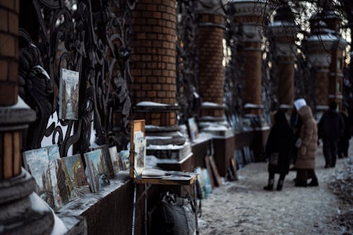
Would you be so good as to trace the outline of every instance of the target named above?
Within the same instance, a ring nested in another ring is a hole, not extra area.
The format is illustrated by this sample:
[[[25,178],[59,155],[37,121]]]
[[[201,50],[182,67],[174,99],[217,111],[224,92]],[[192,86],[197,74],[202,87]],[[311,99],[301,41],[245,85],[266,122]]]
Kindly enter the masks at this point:
[[[224,115],[225,68],[223,67],[223,38],[225,34],[225,15],[220,1],[206,1],[208,5],[198,6],[198,49],[200,59],[199,88],[203,102],[217,106],[203,106],[202,116],[222,118]],[[210,6],[212,4],[212,6]]]

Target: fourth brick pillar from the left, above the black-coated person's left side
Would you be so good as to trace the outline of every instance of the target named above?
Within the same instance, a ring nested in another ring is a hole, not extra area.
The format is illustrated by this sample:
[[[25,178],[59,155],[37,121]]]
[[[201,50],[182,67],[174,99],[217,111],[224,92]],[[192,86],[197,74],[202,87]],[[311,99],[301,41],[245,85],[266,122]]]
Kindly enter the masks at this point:
[[[262,113],[261,99],[261,42],[264,1],[234,1],[235,30],[239,37],[239,56],[244,60],[243,101],[244,110],[249,114]]]

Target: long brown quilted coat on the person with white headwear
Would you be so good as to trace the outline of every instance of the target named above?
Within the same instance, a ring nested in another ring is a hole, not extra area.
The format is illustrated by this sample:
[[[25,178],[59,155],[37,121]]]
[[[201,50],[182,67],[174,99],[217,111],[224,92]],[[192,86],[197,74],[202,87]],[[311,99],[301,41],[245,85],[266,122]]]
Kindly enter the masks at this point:
[[[309,106],[304,106],[298,113],[303,122],[300,129],[302,144],[298,150],[297,161],[294,167],[299,170],[315,169],[318,127]]]

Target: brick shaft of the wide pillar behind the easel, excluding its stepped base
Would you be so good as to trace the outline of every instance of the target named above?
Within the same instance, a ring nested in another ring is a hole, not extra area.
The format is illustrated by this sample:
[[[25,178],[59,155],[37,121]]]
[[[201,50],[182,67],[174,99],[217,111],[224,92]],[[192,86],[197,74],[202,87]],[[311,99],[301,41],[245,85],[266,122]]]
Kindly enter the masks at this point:
[[[176,125],[176,42],[175,0],[141,0],[133,11],[131,75],[133,105],[141,101],[167,106],[136,107],[135,119],[146,125]]]

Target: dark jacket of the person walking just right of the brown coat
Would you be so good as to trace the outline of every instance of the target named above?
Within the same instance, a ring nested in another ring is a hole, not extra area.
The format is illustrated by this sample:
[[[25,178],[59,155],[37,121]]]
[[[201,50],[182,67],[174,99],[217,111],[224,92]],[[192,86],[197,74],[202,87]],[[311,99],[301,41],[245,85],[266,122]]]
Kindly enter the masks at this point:
[[[318,134],[322,139],[338,141],[343,135],[345,122],[340,113],[335,110],[327,110],[320,122],[318,122]]]

